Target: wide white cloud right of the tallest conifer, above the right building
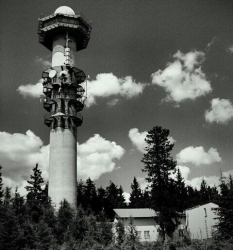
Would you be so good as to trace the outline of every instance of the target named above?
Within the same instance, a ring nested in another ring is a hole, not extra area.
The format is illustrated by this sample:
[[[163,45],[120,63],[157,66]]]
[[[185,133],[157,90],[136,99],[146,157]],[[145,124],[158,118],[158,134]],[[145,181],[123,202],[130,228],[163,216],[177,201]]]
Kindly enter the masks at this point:
[[[176,157],[177,162],[179,163],[192,163],[196,166],[209,165],[214,162],[222,161],[222,158],[219,156],[217,149],[210,148],[208,152],[205,152],[202,146],[190,146],[182,149],[180,153],[176,155]]]

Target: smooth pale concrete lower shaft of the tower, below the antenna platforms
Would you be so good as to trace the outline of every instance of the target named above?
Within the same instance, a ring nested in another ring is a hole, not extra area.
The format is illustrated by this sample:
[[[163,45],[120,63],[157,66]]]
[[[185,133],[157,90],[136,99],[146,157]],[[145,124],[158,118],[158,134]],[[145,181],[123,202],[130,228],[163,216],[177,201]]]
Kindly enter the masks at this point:
[[[76,129],[76,128],[75,128]],[[75,133],[76,134],[76,133]],[[77,205],[77,143],[69,129],[57,127],[50,132],[49,196],[58,207],[66,199]]]

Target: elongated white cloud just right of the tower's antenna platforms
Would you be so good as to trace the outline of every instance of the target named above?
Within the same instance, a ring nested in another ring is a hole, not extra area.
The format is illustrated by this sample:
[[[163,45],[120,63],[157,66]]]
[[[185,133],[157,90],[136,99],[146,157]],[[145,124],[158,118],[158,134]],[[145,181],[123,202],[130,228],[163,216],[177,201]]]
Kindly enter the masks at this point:
[[[90,107],[96,103],[96,98],[120,95],[126,98],[135,97],[143,92],[146,84],[136,83],[132,76],[117,78],[112,73],[102,73],[96,76],[96,80],[88,81],[89,98],[86,105]]]

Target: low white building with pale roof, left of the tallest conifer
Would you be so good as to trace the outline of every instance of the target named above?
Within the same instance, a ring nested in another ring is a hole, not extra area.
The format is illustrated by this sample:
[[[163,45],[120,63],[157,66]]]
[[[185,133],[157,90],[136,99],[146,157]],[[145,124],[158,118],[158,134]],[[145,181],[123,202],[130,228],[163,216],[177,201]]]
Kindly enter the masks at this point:
[[[123,221],[125,228],[129,226],[130,217],[133,218],[135,228],[138,232],[138,237],[143,241],[157,241],[159,226],[156,225],[154,210],[149,208],[132,208],[132,209],[114,209],[115,219],[114,225],[118,220]],[[115,227],[113,227],[115,232]]]

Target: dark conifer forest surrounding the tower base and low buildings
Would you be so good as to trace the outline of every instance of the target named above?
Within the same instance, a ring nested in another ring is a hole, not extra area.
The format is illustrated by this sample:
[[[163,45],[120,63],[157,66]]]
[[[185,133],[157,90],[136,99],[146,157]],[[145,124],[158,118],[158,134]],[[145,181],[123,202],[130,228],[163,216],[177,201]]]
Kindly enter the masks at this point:
[[[0,167],[0,250],[68,250],[68,249],[233,249],[233,178],[220,175],[220,185],[210,187],[203,179],[200,189],[185,184],[176,161],[170,153],[174,144],[168,140],[169,130],[154,127],[146,137],[146,153],[142,158],[148,187],[131,183],[129,202],[124,190],[112,181],[105,188],[96,187],[88,178],[77,183],[78,208],[66,200],[54,209],[48,197],[49,183],[36,165],[27,180],[27,195],[17,188],[5,187]],[[175,178],[171,173],[175,173]],[[210,241],[192,241],[188,236],[174,241],[174,230],[180,215],[188,208],[214,202],[215,233]],[[119,222],[112,233],[114,208],[151,208],[158,217],[161,240],[141,243],[133,218],[127,229]]]

